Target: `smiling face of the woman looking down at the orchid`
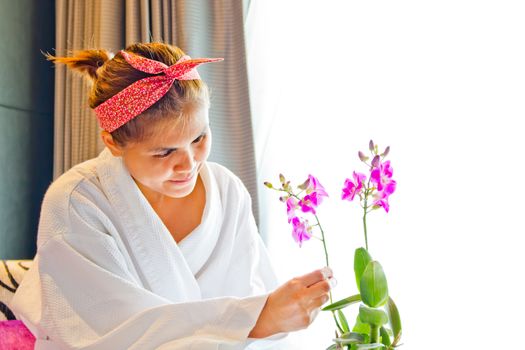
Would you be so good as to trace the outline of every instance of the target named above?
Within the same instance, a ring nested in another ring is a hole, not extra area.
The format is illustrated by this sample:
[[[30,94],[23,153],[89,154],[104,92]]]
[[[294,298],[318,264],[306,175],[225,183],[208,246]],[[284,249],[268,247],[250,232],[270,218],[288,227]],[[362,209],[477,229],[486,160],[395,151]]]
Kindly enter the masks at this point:
[[[153,136],[121,148],[121,156],[147,198],[182,198],[195,188],[210,153],[208,108],[188,106],[176,122],[159,123]]]

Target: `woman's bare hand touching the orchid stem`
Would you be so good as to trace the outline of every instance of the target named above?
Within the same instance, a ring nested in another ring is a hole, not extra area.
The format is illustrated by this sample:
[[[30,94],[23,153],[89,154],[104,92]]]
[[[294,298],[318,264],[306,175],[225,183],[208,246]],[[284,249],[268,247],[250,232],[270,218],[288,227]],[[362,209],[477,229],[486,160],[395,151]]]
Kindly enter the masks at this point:
[[[293,278],[268,296],[250,338],[266,338],[308,327],[335,286],[332,270],[323,268]]]

